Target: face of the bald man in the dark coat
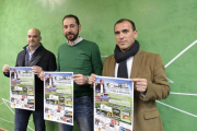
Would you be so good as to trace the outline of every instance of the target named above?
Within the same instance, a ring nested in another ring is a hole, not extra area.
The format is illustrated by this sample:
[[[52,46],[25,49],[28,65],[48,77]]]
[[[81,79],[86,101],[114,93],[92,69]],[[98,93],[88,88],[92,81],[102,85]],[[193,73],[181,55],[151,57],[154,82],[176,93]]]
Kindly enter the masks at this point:
[[[27,32],[27,43],[30,47],[37,48],[39,46],[40,40],[40,34],[36,28],[31,28]]]

